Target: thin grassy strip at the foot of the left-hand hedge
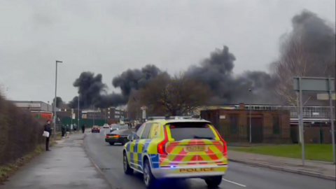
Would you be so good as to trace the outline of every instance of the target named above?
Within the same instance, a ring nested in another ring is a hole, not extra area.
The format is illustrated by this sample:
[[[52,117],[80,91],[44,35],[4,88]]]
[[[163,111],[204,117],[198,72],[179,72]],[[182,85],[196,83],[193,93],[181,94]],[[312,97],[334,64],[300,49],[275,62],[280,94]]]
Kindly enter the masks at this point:
[[[8,177],[15,174],[15,172],[20,169],[23,165],[25,165],[29,160],[36,157],[36,155],[39,155],[44,150],[44,145],[38,145],[35,149],[35,151],[23,156],[22,158],[19,158],[15,162],[9,163],[8,165],[3,165],[0,167],[0,185],[3,184],[3,182],[7,181]]]

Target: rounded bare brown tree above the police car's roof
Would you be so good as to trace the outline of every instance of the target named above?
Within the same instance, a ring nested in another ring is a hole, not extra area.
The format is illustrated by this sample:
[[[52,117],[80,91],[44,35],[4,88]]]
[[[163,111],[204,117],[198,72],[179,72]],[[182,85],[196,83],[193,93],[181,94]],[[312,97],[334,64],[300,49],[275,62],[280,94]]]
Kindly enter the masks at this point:
[[[170,78],[159,75],[141,90],[142,104],[165,110],[171,116],[183,115],[204,106],[211,97],[209,87],[183,74]]]

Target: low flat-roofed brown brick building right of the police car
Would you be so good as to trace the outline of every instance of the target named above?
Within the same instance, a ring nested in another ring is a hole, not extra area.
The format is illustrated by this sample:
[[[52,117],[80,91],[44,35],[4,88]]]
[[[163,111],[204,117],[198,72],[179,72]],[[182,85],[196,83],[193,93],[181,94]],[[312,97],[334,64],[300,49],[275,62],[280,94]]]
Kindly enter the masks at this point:
[[[211,121],[228,142],[250,141],[250,111],[244,104],[239,104],[238,109],[201,111],[201,117]],[[291,143],[290,112],[251,110],[251,142]]]

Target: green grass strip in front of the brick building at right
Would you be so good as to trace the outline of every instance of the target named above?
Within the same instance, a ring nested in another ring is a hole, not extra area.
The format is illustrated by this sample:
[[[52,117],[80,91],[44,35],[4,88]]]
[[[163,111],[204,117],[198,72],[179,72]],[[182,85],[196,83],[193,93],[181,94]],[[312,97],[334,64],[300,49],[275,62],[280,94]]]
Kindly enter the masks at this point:
[[[252,147],[228,147],[231,151],[246,153],[258,153],[262,155],[273,155],[285,158],[301,158],[301,145],[276,145],[276,146],[252,146]],[[304,156],[306,160],[318,160],[332,162],[331,144],[305,144]]]

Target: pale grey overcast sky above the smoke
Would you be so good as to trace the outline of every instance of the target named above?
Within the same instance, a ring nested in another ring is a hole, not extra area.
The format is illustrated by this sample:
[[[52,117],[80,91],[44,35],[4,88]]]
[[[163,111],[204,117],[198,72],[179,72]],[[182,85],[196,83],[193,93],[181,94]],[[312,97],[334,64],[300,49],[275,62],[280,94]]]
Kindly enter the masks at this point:
[[[82,71],[114,76],[156,64],[169,73],[228,45],[235,73],[267,70],[304,8],[335,24],[335,0],[0,0],[0,83],[13,100],[68,102]],[[115,90],[118,91],[118,90]]]

